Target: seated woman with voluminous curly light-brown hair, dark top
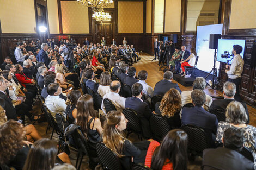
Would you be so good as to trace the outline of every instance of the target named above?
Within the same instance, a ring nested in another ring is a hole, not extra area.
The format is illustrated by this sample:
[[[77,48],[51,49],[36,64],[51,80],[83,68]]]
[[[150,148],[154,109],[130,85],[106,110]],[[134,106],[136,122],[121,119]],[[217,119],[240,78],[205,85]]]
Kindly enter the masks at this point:
[[[161,100],[159,110],[165,116],[172,129],[181,127],[180,120],[181,96],[180,92],[174,88],[165,93]]]

